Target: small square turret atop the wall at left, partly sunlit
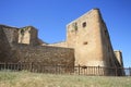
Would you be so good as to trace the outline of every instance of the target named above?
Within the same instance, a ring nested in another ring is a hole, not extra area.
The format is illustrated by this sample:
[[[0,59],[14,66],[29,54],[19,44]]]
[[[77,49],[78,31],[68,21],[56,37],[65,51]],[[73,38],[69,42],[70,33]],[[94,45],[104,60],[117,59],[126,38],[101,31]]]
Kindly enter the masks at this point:
[[[27,26],[19,29],[19,44],[37,45],[37,29]]]

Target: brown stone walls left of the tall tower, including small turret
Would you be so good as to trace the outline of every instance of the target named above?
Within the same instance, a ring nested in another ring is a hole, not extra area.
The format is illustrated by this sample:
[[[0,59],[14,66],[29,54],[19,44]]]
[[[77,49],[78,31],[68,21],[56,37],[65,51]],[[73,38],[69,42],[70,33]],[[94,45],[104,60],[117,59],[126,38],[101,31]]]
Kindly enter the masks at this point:
[[[22,38],[22,32],[23,38]],[[0,25],[0,62],[41,62],[47,65],[74,65],[74,50],[40,46],[37,29]],[[45,42],[44,42],[45,44]]]

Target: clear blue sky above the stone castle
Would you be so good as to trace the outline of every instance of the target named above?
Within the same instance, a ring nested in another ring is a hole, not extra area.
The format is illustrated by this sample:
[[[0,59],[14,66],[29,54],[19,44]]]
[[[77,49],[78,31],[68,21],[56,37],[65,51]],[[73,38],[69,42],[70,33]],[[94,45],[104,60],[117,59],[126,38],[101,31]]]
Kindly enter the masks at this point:
[[[131,66],[131,0],[0,0],[0,24],[33,25],[52,44],[66,40],[66,25],[93,8],[100,9],[114,49]]]

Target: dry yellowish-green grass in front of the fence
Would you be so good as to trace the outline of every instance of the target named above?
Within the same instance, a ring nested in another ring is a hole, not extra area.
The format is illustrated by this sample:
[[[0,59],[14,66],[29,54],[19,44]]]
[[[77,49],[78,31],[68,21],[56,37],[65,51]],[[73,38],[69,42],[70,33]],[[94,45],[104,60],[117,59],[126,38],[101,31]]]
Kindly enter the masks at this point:
[[[0,72],[0,87],[131,87],[131,77]]]

